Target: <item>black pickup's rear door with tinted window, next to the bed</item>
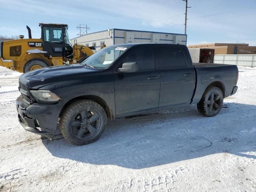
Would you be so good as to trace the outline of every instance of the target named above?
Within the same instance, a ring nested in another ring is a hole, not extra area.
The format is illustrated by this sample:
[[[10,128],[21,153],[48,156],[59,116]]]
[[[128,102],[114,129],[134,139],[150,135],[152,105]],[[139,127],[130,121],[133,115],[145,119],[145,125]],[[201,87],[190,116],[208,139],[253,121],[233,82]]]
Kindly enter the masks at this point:
[[[186,104],[194,91],[194,68],[187,65],[178,46],[156,46],[156,66],[160,70],[159,106]]]

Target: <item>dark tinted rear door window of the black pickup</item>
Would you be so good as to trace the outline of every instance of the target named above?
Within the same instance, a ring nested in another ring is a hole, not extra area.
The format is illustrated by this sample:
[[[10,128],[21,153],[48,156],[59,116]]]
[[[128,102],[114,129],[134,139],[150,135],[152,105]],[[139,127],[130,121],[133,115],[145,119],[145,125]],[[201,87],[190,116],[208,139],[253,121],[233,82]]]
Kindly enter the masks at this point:
[[[156,63],[160,69],[186,67],[186,60],[180,48],[156,47]]]

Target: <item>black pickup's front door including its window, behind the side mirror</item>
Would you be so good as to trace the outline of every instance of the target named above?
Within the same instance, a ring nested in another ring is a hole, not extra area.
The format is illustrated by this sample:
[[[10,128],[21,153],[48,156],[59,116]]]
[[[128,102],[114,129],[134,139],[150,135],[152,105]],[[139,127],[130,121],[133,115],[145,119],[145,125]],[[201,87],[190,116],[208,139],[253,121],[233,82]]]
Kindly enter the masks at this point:
[[[114,73],[116,115],[158,108],[160,74],[155,69],[152,46],[134,48],[121,60],[137,62],[139,70],[132,73]]]

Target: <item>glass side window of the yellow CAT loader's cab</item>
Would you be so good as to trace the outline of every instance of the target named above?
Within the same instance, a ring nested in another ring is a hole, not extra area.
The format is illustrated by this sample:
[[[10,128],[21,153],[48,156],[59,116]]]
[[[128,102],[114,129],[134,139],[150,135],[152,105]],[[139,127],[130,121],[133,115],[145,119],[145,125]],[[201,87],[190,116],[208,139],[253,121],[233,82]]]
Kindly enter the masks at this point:
[[[44,41],[62,42],[62,28],[44,27]]]

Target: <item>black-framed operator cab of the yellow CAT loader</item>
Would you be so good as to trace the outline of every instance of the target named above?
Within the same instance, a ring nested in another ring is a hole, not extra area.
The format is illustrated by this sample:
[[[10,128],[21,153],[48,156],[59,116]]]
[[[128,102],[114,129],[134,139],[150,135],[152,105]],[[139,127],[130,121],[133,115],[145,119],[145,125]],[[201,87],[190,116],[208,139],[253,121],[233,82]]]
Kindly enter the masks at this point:
[[[73,48],[68,38],[68,25],[40,23],[43,50],[52,57],[73,58]]]

